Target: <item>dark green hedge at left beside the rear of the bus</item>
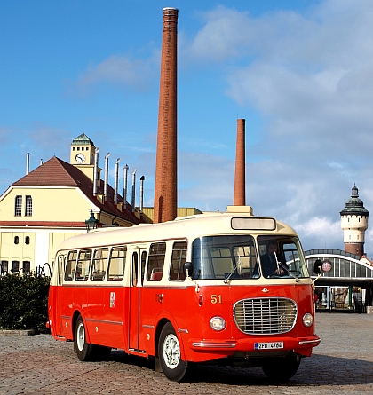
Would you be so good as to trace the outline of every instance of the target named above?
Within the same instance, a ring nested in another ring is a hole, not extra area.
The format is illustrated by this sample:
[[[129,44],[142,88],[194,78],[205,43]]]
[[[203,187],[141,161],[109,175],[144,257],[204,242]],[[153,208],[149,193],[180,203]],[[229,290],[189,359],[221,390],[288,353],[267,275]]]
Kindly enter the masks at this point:
[[[50,277],[36,273],[0,276],[0,329],[45,333]]]

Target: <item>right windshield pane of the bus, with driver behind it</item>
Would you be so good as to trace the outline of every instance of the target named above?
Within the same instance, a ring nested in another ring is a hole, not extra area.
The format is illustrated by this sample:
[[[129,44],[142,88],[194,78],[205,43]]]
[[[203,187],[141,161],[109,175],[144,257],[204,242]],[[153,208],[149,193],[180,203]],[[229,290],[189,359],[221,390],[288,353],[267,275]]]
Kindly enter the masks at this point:
[[[258,251],[263,277],[286,279],[309,277],[297,237],[258,236]]]

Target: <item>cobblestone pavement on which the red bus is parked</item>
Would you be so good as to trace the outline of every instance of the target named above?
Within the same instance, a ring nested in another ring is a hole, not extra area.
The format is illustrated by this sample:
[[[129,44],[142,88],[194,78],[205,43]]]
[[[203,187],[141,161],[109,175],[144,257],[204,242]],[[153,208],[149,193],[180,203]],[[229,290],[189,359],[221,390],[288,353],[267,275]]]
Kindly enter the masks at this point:
[[[317,313],[316,332],[321,344],[287,383],[241,367],[198,367],[191,382],[172,383],[121,351],[80,362],[49,335],[0,336],[0,394],[372,394],[373,315]]]

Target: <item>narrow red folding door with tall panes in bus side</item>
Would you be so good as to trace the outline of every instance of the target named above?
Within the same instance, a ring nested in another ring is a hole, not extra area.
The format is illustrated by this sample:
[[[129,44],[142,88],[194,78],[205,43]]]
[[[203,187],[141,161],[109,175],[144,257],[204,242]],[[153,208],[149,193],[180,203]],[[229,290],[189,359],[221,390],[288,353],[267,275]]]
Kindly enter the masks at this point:
[[[141,291],[144,282],[147,250],[142,247],[131,249],[130,314],[129,314],[129,349],[139,350],[141,328]]]

